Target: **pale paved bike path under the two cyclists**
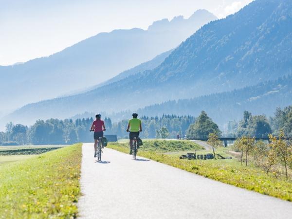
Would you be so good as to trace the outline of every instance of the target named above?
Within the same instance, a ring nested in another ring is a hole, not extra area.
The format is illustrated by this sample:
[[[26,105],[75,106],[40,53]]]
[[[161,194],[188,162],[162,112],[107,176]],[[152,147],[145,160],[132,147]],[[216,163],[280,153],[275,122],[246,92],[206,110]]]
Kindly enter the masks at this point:
[[[288,219],[292,203],[213,181],[165,164],[83,144],[80,218]]]

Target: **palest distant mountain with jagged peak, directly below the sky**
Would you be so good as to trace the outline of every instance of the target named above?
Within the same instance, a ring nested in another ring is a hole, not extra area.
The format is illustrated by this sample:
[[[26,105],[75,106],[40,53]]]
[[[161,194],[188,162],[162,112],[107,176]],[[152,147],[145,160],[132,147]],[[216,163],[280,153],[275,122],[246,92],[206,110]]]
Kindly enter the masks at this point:
[[[199,10],[189,19],[154,22],[148,30],[100,33],[48,57],[0,66],[0,102],[5,103],[0,111],[104,82],[175,48],[214,19],[213,14]]]

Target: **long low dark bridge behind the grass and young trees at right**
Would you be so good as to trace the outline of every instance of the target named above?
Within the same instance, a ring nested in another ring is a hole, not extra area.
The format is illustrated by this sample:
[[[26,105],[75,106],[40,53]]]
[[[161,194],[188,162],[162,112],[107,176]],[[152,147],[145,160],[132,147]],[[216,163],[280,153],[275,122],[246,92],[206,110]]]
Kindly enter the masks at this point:
[[[235,141],[237,138],[242,137],[243,135],[219,135],[218,138],[220,141],[224,142],[224,146],[227,146],[228,141]],[[262,140],[262,141],[270,141],[270,138],[268,135],[260,135],[260,136],[247,136],[250,138],[255,138],[256,141]],[[199,140],[199,141],[207,141],[208,136],[201,136],[201,137],[196,137],[196,138],[188,138],[189,140]],[[277,139],[279,137],[277,136]],[[286,136],[283,139],[285,140],[292,140],[292,135]]]

